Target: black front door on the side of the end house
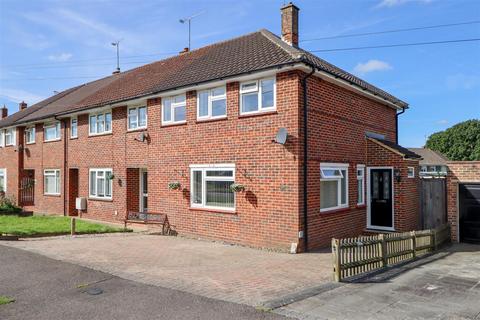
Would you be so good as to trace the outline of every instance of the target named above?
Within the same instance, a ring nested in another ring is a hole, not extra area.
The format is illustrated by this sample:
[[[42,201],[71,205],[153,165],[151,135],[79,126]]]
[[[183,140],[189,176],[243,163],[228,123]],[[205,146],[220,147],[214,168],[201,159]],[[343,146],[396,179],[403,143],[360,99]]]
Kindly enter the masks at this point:
[[[393,227],[392,169],[370,169],[370,227]]]

